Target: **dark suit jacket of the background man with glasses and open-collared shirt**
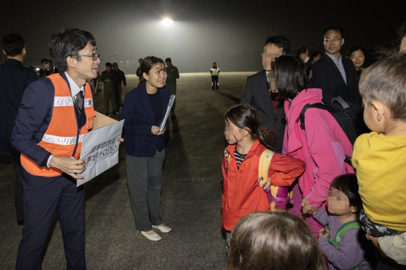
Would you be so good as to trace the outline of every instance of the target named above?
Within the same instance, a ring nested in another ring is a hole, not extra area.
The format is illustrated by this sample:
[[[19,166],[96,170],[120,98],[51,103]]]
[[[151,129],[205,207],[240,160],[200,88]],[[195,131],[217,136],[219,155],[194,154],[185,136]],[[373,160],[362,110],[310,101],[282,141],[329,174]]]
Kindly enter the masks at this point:
[[[323,102],[326,104],[331,104],[331,99],[337,96],[341,96],[345,101],[361,104],[354,64],[345,57],[342,57],[342,61],[347,84],[344,82],[343,76],[334,61],[324,53],[312,65],[314,85],[323,91]]]

